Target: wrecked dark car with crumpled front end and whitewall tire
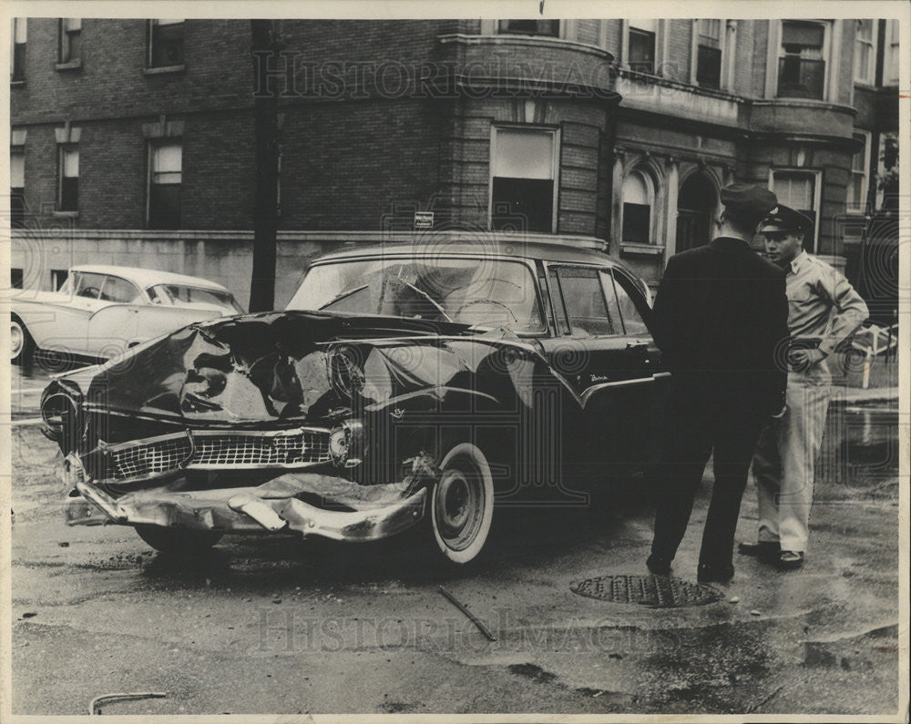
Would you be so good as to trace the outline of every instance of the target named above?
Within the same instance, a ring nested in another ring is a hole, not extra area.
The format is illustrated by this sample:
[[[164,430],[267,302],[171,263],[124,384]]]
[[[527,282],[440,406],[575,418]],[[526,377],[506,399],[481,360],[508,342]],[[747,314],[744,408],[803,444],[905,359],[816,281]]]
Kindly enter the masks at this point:
[[[669,374],[647,295],[563,244],[325,256],[285,311],[195,322],[56,377],[42,416],[70,523],[100,514],[159,550],[417,525],[466,564],[495,504],[585,505],[659,454]]]

